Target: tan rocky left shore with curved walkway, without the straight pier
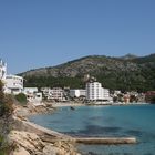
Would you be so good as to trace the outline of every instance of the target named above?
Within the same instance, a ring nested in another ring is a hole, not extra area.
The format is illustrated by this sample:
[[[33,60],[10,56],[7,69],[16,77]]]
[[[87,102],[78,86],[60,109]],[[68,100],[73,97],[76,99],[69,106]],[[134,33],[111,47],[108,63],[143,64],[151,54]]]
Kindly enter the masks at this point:
[[[55,107],[21,107],[13,112],[13,127],[8,135],[11,155],[80,155],[75,141],[64,134],[44,128],[27,120],[28,115],[54,112]],[[49,141],[50,140],[50,141]]]

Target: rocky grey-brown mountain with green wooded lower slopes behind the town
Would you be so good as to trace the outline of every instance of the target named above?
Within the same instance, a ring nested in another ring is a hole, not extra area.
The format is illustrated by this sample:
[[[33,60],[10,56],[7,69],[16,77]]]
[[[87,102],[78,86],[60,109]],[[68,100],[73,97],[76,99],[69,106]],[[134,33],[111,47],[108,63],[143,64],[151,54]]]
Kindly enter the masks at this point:
[[[56,66],[31,70],[20,75],[25,79],[25,86],[78,89],[85,86],[85,74],[95,76],[104,87],[111,90],[155,90],[155,54],[132,59],[90,55]]]

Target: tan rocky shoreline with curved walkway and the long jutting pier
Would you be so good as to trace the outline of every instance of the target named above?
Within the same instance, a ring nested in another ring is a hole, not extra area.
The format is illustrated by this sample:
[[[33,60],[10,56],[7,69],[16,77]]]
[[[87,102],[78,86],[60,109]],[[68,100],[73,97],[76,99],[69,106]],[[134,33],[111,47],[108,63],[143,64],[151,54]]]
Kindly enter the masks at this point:
[[[10,155],[81,155],[76,149],[78,143],[107,145],[136,143],[135,137],[72,137],[37,125],[27,118],[33,114],[53,113],[60,106],[63,105],[32,106],[30,104],[27,107],[17,105],[12,114],[13,126],[8,135],[9,145],[13,148]],[[81,104],[72,104],[72,106],[81,106]]]

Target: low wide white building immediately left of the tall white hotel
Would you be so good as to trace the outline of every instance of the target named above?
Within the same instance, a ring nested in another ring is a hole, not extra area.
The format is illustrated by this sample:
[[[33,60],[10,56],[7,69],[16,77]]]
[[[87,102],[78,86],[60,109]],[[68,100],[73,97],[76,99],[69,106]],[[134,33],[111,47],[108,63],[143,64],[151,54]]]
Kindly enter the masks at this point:
[[[86,96],[86,90],[70,90],[71,97]]]

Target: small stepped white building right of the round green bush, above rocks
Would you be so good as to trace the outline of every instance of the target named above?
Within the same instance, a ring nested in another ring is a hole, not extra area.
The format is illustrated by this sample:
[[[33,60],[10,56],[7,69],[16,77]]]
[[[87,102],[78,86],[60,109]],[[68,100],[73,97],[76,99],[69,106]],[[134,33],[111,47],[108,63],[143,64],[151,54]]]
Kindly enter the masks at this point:
[[[24,87],[23,93],[27,95],[27,100],[33,105],[42,105],[42,93],[39,92],[38,87]]]

